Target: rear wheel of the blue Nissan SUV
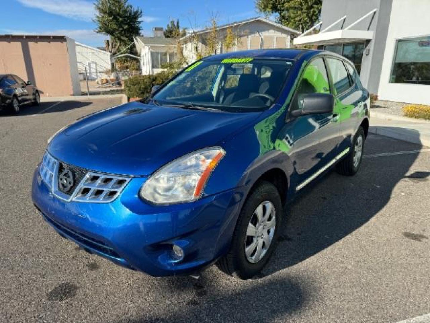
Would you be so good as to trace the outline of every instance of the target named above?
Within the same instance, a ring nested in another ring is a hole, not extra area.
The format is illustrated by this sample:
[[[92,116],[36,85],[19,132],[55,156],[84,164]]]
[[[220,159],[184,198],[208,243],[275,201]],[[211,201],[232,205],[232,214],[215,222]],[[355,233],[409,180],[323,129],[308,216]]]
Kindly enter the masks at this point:
[[[336,171],[339,174],[352,176],[359,170],[363,158],[364,140],[364,130],[359,127],[354,136],[350,152],[336,167]]]

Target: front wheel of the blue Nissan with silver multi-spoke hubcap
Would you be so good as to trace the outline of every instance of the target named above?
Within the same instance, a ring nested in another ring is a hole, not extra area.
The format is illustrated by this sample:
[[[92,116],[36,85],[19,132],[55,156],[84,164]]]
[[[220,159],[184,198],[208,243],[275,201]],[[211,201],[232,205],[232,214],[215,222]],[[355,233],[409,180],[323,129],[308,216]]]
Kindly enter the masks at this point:
[[[257,275],[275,249],[281,218],[278,190],[272,183],[261,182],[246,199],[230,251],[218,261],[218,268],[240,279]]]

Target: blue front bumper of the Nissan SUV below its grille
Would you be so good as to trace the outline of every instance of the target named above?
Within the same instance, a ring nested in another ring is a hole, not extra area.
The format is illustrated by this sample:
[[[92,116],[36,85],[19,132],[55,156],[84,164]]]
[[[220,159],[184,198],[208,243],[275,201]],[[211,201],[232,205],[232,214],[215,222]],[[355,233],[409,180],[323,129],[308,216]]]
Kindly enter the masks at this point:
[[[190,274],[227,252],[243,194],[229,190],[196,202],[153,206],[138,196],[146,178],[134,177],[111,203],[65,202],[36,168],[32,199],[63,237],[89,252],[152,276]],[[175,261],[172,244],[185,257]]]

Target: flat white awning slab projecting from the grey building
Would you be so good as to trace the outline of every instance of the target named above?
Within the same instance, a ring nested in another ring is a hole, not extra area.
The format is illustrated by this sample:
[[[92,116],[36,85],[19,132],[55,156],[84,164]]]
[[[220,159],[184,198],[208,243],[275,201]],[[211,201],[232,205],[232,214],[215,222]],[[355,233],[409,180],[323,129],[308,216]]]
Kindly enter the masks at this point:
[[[335,43],[353,43],[373,39],[373,31],[341,29],[326,31],[309,36],[296,37],[293,40],[295,45],[329,45]]]

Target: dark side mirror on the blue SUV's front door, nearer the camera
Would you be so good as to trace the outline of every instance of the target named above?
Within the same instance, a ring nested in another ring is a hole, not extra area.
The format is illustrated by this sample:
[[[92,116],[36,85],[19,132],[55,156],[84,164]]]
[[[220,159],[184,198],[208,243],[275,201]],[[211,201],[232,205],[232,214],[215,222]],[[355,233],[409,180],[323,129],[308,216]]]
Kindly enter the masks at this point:
[[[330,93],[311,93],[301,94],[298,96],[299,106],[301,110],[294,110],[291,115],[298,117],[299,115],[311,115],[318,113],[332,113],[335,105],[335,97]]]

